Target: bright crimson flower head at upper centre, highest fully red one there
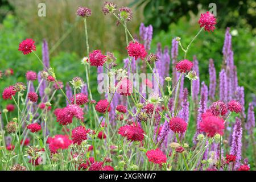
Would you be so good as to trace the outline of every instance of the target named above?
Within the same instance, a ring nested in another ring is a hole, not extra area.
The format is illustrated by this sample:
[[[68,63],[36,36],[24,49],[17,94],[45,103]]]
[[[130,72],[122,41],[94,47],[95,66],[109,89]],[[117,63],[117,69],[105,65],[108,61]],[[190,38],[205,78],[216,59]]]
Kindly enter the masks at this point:
[[[135,60],[138,58],[144,60],[144,58],[147,56],[144,45],[138,42],[130,42],[129,46],[127,47],[127,52],[129,56],[134,57]]]

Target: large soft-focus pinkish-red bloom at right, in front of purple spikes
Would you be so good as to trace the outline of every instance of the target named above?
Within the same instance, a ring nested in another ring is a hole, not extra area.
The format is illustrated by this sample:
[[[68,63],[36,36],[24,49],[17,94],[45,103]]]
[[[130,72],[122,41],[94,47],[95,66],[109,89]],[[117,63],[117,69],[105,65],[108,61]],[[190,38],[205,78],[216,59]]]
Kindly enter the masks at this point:
[[[223,135],[225,129],[224,120],[217,116],[209,116],[202,118],[199,123],[200,130],[207,133],[208,137],[214,137],[215,134]]]

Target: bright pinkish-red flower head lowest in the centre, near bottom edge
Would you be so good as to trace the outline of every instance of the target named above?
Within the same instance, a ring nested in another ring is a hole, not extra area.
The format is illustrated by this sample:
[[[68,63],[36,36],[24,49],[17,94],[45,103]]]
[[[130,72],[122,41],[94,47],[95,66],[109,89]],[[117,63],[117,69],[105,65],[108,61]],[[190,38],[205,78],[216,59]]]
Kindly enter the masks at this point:
[[[149,162],[155,164],[166,163],[167,160],[166,155],[159,148],[156,148],[156,150],[147,151],[146,156]]]

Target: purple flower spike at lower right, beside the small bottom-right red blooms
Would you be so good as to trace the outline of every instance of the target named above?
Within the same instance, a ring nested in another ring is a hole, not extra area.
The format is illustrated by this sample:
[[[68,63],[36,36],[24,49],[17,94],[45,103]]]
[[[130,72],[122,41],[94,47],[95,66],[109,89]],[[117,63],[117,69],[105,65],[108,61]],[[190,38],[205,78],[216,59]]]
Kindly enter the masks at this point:
[[[242,156],[242,126],[239,118],[236,118],[236,124],[234,125],[230,154],[236,156],[235,169],[237,169],[240,166]]]

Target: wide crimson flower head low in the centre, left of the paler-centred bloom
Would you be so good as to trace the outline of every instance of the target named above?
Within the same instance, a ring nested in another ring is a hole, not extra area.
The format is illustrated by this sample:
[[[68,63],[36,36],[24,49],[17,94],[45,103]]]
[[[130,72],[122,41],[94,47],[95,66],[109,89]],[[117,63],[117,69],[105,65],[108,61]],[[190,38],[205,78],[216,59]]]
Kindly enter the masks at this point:
[[[136,126],[135,123],[133,123],[133,125],[120,127],[118,129],[118,134],[131,141],[142,141],[144,139],[144,131],[140,126]]]

